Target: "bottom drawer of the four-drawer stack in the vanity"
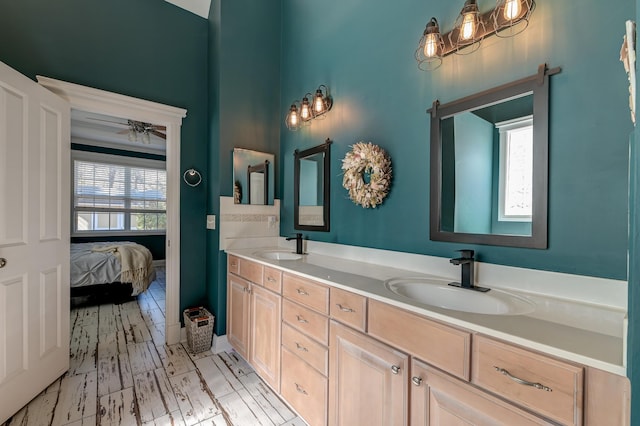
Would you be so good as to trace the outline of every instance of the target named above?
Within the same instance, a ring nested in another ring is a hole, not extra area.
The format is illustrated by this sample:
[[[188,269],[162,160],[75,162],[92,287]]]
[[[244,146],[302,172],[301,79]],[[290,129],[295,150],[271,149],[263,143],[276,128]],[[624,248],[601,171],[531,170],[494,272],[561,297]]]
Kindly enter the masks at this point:
[[[326,425],[327,378],[285,348],[282,365],[281,395],[310,426]]]

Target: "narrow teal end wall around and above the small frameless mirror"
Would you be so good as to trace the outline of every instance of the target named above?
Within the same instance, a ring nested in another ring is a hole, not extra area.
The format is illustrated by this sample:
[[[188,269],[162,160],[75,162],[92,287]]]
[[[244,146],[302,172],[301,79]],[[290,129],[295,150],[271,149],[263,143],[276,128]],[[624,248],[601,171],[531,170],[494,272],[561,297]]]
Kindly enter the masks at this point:
[[[213,0],[209,13],[208,211],[233,195],[233,148],[275,154],[275,196],[280,198],[280,1]],[[226,334],[226,255],[218,233],[207,233],[208,304],[215,333]]]

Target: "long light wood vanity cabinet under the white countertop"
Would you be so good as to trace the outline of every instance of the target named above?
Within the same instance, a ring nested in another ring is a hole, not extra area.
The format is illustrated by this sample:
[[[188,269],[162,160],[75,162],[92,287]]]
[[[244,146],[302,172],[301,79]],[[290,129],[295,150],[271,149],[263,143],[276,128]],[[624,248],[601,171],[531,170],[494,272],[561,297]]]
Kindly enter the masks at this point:
[[[228,271],[229,343],[311,426],[629,425],[626,377],[233,255]]]

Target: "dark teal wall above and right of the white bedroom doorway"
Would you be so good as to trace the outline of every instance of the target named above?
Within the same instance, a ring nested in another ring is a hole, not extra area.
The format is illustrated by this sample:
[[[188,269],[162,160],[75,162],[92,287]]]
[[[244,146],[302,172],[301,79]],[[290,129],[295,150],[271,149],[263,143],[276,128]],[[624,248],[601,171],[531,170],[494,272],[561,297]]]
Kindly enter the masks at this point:
[[[0,0],[0,61],[187,109],[181,170],[207,170],[207,21],[159,0]],[[182,307],[206,300],[207,182],[181,188]]]

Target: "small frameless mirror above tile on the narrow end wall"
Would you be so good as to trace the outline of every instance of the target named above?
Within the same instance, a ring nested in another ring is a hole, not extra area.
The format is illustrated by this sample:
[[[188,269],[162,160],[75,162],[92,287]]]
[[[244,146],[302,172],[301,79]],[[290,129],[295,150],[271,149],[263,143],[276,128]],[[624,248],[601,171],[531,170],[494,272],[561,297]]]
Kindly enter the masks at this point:
[[[273,205],[275,155],[250,149],[233,149],[233,199],[235,204]]]

